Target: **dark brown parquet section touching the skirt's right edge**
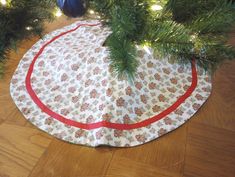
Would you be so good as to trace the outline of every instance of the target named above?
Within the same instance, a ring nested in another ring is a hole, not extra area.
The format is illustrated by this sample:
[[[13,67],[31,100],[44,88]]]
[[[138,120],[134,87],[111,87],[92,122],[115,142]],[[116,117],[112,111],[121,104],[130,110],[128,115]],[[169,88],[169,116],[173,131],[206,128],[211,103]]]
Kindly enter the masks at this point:
[[[234,68],[235,61],[225,62],[216,71],[213,77],[212,94],[197,113],[198,117],[192,121],[235,131]]]

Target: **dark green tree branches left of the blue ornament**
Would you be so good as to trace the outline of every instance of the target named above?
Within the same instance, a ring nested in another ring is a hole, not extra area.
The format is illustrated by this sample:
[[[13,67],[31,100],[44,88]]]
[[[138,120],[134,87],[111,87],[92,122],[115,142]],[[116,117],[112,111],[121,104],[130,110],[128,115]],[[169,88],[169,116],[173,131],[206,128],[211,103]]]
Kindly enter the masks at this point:
[[[54,0],[0,0],[0,76],[17,43],[43,32],[43,22],[55,16]]]

